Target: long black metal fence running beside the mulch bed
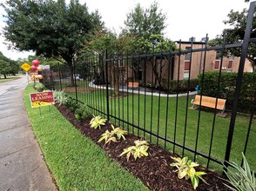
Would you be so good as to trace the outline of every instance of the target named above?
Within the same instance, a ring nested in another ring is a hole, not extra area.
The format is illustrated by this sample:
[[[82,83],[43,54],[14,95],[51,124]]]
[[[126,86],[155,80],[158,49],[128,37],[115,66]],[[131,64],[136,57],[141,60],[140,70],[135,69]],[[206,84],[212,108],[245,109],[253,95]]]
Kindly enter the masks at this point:
[[[256,89],[249,113],[238,114],[244,71],[251,66],[246,61],[248,44],[255,43],[250,38],[254,7],[251,3],[243,43],[224,41],[222,46],[210,47],[207,42],[180,41],[178,50],[137,56],[108,56],[106,51],[104,57],[88,57],[75,64],[74,87],[69,86],[71,72],[64,65],[45,74],[44,82],[84,103],[93,114],[104,115],[165,149],[188,155],[206,168],[221,170],[225,161],[240,161],[244,152],[256,170]],[[241,56],[225,56],[228,49],[241,49]],[[214,109],[190,109],[195,95],[204,95],[204,85],[197,86],[198,75],[204,79],[208,71],[218,73],[216,101],[227,99],[219,96],[223,74],[237,72],[226,117],[219,117],[217,103]]]

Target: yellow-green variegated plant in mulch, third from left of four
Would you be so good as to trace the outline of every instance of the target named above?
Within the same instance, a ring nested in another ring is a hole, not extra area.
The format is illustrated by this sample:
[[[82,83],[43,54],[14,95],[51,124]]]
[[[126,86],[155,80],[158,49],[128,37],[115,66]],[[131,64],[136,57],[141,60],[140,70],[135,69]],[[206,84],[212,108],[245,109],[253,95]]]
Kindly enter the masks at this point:
[[[147,153],[147,149],[149,148],[148,142],[136,140],[134,143],[135,143],[135,146],[125,148],[124,152],[121,153],[121,155],[126,154],[127,161],[129,161],[131,155],[133,155],[135,160],[137,160],[137,158],[141,158],[142,156],[148,156],[148,153]]]

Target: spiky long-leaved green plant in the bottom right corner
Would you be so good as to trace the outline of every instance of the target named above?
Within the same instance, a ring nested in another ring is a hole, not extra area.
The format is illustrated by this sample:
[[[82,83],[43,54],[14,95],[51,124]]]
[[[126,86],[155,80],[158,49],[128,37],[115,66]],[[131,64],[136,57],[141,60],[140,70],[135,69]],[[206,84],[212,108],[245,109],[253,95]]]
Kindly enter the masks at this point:
[[[227,162],[232,168],[225,170],[225,174],[229,179],[231,186],[226,185],[227,188],[230,188],[233,191],[255,191],[256,190],[256,180],[254,172],[251,171],[251,168],[246,161],[246,156],[243,155],[243,166],[240,167],[235,162]]]

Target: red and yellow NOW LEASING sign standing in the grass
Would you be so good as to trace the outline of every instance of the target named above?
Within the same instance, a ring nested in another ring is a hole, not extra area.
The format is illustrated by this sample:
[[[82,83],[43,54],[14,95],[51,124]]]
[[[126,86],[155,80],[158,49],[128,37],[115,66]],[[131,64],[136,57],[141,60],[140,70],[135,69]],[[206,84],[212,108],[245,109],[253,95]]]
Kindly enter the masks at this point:
[[[54,96],[52,91],[44,91],[30,94],[30,102],[32,108],[47,106],[54,104]]]

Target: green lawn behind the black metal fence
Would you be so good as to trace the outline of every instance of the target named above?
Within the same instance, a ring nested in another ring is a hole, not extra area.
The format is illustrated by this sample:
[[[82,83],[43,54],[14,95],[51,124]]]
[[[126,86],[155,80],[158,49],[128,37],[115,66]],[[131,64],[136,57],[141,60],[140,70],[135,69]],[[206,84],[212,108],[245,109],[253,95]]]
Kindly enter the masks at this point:
[[[103,110],[106,113],[106,91],[104,89],[95,90],[89,88],[91,92],[86,92],[80,89],[88,89],[87,83],[81,83],[78,85],[78,100],[85,102],[91,107]],[[75,93],[70,92],[68,95],[75,97]],[[176,97],[172,97],[169,98],[167,106],[166,97],[161,97],[159,99],[158,96],[137,94],[132,96],[130,94],[125,98],[110,99],[110,113],[111,115],[117,116],[126,122],[131,122],[141,128],[152,131],[156,135],[161,135],[163,137],[166,136],[166,138],[172,141],[175,140],[182,145],[185,143],[186,147],[197,147],[197,150],[205,155],[210,155],[212,138],[211,156],[219,159],[220,161],[224,161],[230,115],[227,115],[226,118],[219,116],[214,118],[214,113],[212,111],[201,111],[199,117],[198,109],[186,109],[187,102],[188,106],[191,106],[191,99],[192,97],[189,97],[187,101],[186,97],[179,97],[177,105]],[[177,112],[176,107],[178,108]],[[96,114],[99,113],[96,112]],[[165,120],[166,116],[167,121]],[[173,145],[171,143],[166,143],[165,145],[165,143],[160,139],[144,134],[142,131],[138,131],[136,128],[132,128],[131,126],[127,126],[123,122],[118,122],[114,118],[111,118],[111,122],[127,128],[130,132],[134,132],[135,135],[145,135],[147,140],[151,140],[152,142],[158,143],[160,146],[173,151]],[[241,160],[241,152],[243,152],[245,147],[248,125],[248,116],[237,116],[232,139],[232,161],[239,162]],[[167,127],[166,132],[165,127]],[[212,132],[213,136],[211,137]],[[197,136],[198,142],[196,142]],[[246,158],[254,170],[256,170],[256,161],[254,160],[254,151],[256,148],[255,136],[256,124],[254,120],[246,150]],[[183,153],[182,149],[179,147],[175,147],[174,152],[179,154]],[[188,155],[192,159],[194,157],[194,155],[189,151],[185,151],[184,155]],[[201,164],[206,164],[205,158],[200,157],[199,155],[197,156],[197,161]],[[222,166],[215,162],[210,162],[209,168],[221,170]]]

